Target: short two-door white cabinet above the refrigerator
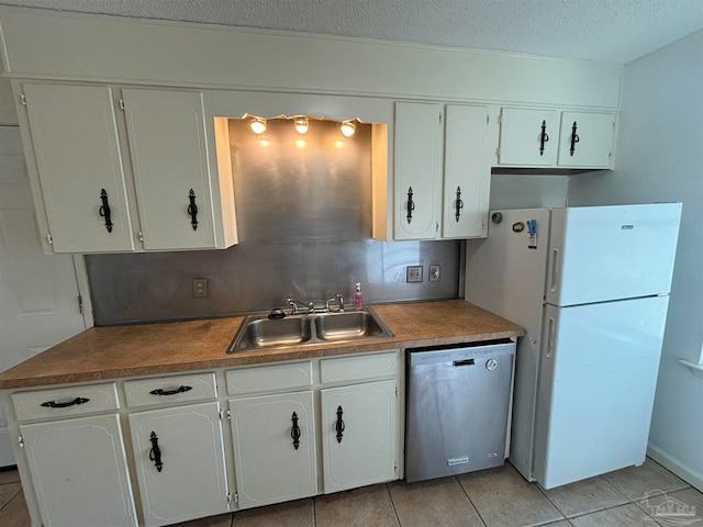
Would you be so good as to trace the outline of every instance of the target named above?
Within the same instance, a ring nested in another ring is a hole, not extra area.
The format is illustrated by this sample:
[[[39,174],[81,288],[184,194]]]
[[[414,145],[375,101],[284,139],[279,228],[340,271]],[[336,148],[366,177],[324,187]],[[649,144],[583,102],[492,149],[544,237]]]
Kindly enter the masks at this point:
[[[503,108],[498,166],[611,168],[614,138],[614,112]]]

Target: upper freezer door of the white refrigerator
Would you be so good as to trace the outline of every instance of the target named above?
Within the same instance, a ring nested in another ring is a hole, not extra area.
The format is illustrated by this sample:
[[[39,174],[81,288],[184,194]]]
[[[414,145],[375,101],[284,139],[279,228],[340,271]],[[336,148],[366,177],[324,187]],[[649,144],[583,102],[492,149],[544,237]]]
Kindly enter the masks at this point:
[[[669,292],[681,203],[554,209],[551,217],[548,304]]]

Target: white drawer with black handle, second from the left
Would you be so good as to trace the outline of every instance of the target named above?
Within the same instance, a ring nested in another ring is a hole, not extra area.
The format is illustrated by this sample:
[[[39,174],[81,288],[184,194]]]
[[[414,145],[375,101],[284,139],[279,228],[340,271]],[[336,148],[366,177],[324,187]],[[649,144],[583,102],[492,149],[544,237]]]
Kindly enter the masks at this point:
[[[217,384],[212,371],[187,375],[155,377],[124,383],[127,406],[204,401],[217,396]]]

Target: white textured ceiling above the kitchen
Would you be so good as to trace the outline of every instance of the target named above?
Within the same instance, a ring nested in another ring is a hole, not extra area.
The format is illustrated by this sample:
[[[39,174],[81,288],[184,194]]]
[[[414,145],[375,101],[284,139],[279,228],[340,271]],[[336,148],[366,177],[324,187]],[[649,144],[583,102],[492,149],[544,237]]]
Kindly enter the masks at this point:
[[[703,0],[0,0],[0,4],[627,64],[703,27]]]

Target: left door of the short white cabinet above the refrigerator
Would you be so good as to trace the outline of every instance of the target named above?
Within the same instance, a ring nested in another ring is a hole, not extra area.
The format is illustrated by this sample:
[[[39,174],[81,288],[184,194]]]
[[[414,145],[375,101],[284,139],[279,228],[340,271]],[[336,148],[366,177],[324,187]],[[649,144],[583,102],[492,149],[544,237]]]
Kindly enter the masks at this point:
[[[501,110],[499,165],[550,167],[557,161],[558,142],[559,112],[521,108]]]

